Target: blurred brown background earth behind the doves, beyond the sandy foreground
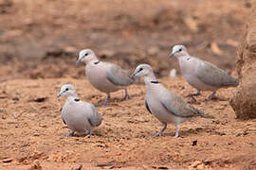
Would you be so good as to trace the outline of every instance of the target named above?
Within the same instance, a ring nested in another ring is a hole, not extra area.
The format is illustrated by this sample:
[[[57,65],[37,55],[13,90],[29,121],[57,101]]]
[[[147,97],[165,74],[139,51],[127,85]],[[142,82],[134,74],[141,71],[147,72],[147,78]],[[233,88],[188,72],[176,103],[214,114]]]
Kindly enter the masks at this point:
[[[235,69],[249,0],[0,0],[0,81],[82,77],[83,48],[126,69],[147,62],[157,76],[178,70],[175,44],[222,69]],[[22,18],[21,18],[22,16]],[[56,67],[56,65],[58,65]]]

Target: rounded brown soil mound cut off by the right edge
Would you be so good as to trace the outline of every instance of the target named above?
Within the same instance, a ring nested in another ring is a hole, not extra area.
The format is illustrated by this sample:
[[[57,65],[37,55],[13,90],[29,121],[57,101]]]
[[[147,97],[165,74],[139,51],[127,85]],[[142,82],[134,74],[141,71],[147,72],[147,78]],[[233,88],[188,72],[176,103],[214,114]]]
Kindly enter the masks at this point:
[[[230,100],[237,118],[256,118],[256,12],[251,13],[239,49],[237,72],[241,83]]]

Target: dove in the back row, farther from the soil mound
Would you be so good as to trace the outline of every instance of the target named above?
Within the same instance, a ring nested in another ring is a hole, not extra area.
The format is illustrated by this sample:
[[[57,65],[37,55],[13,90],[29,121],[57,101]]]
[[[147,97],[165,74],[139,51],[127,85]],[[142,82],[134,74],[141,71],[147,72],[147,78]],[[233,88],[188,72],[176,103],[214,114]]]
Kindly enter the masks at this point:
[[[85,75],[90,83],[102,93],[107,94],[105,104],[108,104],[110,93],[120,89],[125,91],[124,99],[130,98],[127,86],[132,84],[134,79],[126,70],[116,64],[100,61],[90,49],[83,49],[80,52],[76,63],[80,62],[86,64]]]

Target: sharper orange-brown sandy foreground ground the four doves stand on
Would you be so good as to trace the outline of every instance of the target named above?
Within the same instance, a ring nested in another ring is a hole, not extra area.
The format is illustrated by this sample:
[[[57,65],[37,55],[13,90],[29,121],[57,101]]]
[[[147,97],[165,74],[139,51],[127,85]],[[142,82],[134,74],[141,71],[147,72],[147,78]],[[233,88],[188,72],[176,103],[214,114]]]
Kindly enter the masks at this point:
[[[192,92],[181,77],[160,82],[184,98]],[[64,98],[58,100],[56,95],[64,83],[73,83],[81,99],[101,112],[104,120],[91,138],[63,137],[69,132],[60,113]],[[85,79],[21,79],[0,85],[3,169],[256,168],[256,122],[235,119],[229,106],[232,88],[220,90],[220,100],[206,102],[207,92],[196,97],[193,106],[215,118],[194,118],[182,124],[181,137],[174,139],[173,125],[162,137],[152,136],[161,125],[145,109],[143,84],[129,87],[130,100],[120,99],[123,92],[113,93],[107,107],[101,107],[105,94]]]

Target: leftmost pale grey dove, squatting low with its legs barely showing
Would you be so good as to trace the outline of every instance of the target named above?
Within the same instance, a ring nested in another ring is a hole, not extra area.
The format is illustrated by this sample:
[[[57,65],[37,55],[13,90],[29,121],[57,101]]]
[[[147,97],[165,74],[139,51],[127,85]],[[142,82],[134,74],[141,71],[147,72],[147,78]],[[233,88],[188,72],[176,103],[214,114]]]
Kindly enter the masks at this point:
[[[94,127],[101,125],[102,118],[99,112],[92,104],[78,98],[73,85],[64,84],[57,98],[60,96],[66,97],[62,116],[64,124],[71,129],[71,132],[66,135],[67,137],[73,136],[75,131],[87,132],[90,136]]]

